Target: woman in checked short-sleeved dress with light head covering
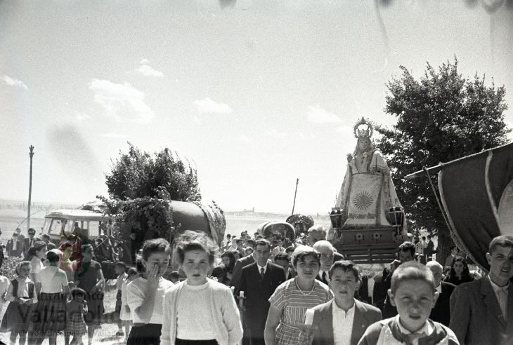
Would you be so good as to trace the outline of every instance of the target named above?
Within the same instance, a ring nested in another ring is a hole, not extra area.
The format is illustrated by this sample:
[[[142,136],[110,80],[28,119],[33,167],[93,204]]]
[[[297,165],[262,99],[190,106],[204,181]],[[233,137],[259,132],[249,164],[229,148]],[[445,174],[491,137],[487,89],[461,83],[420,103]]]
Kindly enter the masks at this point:
[[[264,333],[266,345],[296,345],[306,309],[333,298],[330,288],[316,280],[320,267],[317,250],[299,246],[292,253],[292,266],[297,277],[278,286],[269,299],[271,308]]]

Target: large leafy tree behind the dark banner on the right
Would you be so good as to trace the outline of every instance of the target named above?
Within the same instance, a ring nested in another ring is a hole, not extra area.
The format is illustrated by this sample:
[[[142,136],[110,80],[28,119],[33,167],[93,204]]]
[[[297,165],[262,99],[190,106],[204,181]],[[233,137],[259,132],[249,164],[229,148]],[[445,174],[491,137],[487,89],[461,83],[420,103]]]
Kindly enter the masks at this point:
[[[503,112],[505,88],[493,81],[486,86],[485,76],[463,78],[457,60],[438,70],[427,64],[420,79],[401,66],[402,74],[387,84],[387,114],[397,123],[391,128],[377,127],[377,147],[387,156],[394,171],[398,198],[407,217],[439,237],[437,257],[449,255],[452,241],[427,177],[406,180],[405,176],[453,159],[497,147],[507,142]],[[432,175],[438,193],[437,176]],[[443,264],[443,262],[442,262]]]

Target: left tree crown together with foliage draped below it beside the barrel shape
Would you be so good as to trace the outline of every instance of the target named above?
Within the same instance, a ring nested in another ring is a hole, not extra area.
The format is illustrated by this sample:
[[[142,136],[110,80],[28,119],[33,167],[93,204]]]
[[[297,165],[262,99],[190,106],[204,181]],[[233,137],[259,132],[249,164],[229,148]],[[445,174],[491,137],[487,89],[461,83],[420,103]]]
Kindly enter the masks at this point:
[[[176,225],[169,201],[200,203],[197,172],[167,148],[151,156],[128,144],[128,153],[119,151],[105,174],[110,199],[97,196],[116,219],[113,235],[119,241],[136,233],[141,240],[159,237],[171,243]]]

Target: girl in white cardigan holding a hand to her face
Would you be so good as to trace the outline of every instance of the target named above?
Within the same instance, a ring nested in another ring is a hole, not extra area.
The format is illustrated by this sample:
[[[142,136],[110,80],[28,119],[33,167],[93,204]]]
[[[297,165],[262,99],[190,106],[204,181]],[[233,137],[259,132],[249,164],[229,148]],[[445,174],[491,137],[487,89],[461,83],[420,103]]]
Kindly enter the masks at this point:
[[[126,285],[126,302],[134,327],[127,345],[158,345],[164,309],[164,292],[174,286],[162,278],[169,265],[171,247],[164,238],[145,241],[141,258],[141,277]]]

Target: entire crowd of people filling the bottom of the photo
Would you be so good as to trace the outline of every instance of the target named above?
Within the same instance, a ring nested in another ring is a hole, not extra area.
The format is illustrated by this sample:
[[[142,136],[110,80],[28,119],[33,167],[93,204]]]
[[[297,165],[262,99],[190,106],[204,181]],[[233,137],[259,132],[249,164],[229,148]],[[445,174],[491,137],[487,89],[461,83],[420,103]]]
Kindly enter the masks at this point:
[[[6,246],[23,258],[16,277],[0,276],[0,331],[11,344],[93,344],[106,283],[93,246],[19,236]],[[431,238],[364,274],[325,238],[315,225],[293,243],[243,232],[218,245],[185,231],[171,253],[162,238],[145,241],[136,267],[115,264],[115,335],[130,345],[513,344],[513,237],[493,238],[483,276],[457,248],[446,266],[434,261]]]

